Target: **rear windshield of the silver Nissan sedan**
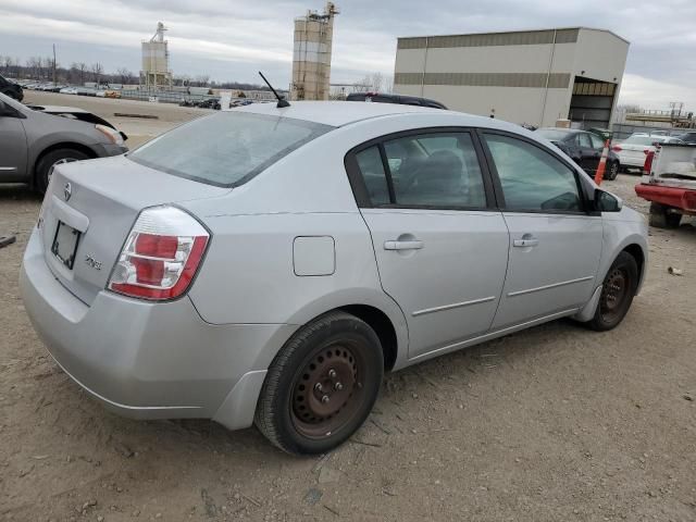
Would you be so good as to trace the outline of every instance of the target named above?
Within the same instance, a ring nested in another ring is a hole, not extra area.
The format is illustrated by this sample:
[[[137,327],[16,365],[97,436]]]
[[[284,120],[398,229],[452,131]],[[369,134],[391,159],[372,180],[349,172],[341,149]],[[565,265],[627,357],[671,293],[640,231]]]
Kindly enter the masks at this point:
[[[333,127],[289,117],[225,111],[194,120],[128,158],[210,185],[241,185]]]

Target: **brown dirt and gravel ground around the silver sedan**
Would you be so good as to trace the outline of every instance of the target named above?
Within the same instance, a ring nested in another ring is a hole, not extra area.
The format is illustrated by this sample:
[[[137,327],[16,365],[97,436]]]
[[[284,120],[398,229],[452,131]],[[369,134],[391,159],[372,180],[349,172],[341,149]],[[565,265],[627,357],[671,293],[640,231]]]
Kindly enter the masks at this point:
[[[605,185],[645,212],[636,182]],[[388,375],[349,443],[296,458],[254,428],[115,417],[65,376],[17,287],[39,204],[0,187],[2,521],[696,520],[693,220],[651,231],[617,330],[556,321]]]

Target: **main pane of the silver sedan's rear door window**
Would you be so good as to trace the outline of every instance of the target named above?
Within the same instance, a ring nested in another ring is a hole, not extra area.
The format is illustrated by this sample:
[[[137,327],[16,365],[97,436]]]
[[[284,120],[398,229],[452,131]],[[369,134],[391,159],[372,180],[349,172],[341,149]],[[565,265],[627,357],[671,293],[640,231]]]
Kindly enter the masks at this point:
[[[384,144],[395,201],[403,207],[485,208],[469,133],[422,134]]]

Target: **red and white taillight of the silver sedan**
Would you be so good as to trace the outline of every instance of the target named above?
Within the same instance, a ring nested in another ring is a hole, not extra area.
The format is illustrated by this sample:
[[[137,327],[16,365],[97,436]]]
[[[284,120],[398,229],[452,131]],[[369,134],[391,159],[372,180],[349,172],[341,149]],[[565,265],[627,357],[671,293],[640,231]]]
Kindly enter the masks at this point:
[[[174,207],[140,212],[119,256],[108,288],[144,299],[179,297],[189,287],[210,234]]]

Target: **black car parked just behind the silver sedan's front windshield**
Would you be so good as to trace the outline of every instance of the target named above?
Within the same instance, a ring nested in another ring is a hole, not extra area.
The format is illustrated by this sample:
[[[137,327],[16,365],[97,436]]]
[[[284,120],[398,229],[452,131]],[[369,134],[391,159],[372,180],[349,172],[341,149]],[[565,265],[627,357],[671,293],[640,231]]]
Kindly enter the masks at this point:
[[[577,163],[585,172],[594,173],[599,166],[605,141],[598,135],[572,128],[543,127],[535,130]],[[609,151],[605,179],[616,179],[621,169],[619,157]]]

